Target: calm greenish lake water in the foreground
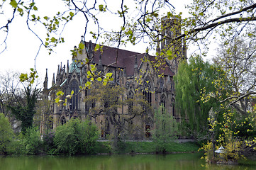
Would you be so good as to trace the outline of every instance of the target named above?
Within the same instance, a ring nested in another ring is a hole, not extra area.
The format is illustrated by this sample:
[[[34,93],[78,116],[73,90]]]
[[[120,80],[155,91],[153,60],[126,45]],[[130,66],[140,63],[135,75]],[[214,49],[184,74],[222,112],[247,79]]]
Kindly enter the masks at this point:
[[[252,165],[206,164],[202,154],[121,154],[92,156],[0,156],[1,170],[238,170]]]

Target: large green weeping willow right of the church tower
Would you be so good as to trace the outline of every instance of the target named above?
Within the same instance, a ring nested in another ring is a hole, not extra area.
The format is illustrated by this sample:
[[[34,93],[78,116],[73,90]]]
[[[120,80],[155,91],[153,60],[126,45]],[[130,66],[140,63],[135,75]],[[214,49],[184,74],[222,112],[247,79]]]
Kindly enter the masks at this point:
[[[199,56],[191,57],[189,63],[179,64],[175,76],[175,106],[182,117],[182,127],[186,127],[184,131],[199,137],[199,140],[201,137],[201,140],[207,139],[209,111],[218,108],[221,104],[219,98],[226,95],[225,91],[218,93],[216,89],[219,83],[216,80],[223,77],[222,74],[221,69],[204,62]]]

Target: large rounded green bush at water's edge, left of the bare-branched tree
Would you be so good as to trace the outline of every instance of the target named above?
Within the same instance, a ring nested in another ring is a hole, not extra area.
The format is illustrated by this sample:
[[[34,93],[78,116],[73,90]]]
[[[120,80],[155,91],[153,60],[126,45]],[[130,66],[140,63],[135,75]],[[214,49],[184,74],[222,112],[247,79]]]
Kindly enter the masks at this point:
[[[89,120],[72,119],[57,127],[54,144],[62,154],[93,154],[98,137],[96,125]]]

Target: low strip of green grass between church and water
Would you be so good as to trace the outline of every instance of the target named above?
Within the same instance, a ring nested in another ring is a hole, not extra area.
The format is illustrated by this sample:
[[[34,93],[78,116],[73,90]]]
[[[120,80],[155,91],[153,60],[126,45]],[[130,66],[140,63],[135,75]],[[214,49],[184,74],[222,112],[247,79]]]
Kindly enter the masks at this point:
[[[170,142],[167,152],[197,152],[199,145],[196,142]],[[111,142],[98,142],[97,153],[155,153],[154,142],[121,142],[119,149],[112,149]]]

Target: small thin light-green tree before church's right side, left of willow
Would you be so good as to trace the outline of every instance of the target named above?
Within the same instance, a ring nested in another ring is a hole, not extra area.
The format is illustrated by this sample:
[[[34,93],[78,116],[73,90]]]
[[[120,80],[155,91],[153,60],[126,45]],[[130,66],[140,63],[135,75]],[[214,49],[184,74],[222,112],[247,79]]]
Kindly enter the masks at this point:
[[[164,106],[155,111],[155,130],[153,142],[156,152],[167,152],[167,145],[177,139],[178,123],[170,115]]]

